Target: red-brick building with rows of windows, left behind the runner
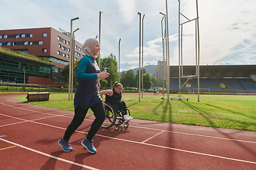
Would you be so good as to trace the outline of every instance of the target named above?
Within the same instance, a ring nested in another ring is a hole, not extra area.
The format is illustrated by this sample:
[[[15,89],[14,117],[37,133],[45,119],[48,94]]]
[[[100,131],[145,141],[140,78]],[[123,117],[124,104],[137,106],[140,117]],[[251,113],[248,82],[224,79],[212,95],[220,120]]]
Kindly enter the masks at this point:
[[[60,29],[54,28],[29,28],[29,29],[16,29],[16,30],[0,30],[0,47],[8,48],[11,50],[20,51],[26,55],[34,55],[48,60],[51,63],[50,81],[46,81],[45,76],[34,74],[31,77],[26,76],[26,83],[52,85],[52,86],[65,86],[62,69],[70,62],[70,33]],[[1,64],[5,61],[16,62],[17,57],[8,55],[1,52]],[[80,60],[85,55],[82,52],[82,44],[75,40],[74,58]],[[23,60],[24,63],[27,60]],[[6,63],[6,65],[8,65]],[[26,64],[27,66],[33,64]],[[48,65],[49,66],[49,65]],[[25,72],[30,72],[31,67],[23,67]],[[23,70],[22,68],[22,70]],[[28,70],[27,70],[28,69]],[[33,70],[33,69],[32,69]],[[0,77],[2,81],[14,81],[14,75],[21,75],[23,71],[17,69],[6,69],[0,67]]]

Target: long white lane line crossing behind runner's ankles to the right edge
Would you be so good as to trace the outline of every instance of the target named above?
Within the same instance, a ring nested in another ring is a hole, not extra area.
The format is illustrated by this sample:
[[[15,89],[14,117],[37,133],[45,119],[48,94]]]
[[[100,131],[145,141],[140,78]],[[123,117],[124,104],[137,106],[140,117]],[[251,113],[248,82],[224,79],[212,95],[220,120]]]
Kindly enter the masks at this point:
[[[1,114],[1,115],[3,115],[3,114]],[[12,116],[10,116],[10,117],[12,117]],[[13,117],[13,118],[15,118],[15,117]],[[18,119],[21,119],[21,118],[18,118]],[[49,126],[49,127],[52,127],[52,128],[58,128],[58,129],[66,130],[66,128],[60,128],[58,126],[48,125],[48,124],[45,124],[45,123],[37,123],[37,122],[33,122],[31,120],[28,120],[28,122],[36,123],[36,124],[40,124],[40,125],[46,125],[46,126]],[[82,131],[78,131],[78,130],[75,130],[75,132],[80,132],[80,133],[83,133],[83,134],[86,133],[86,132],[82,132]],[[105,138],[112,139],[112,140],[120,140],[120,141],[124,141],[124,142],[136,143],[136,144],[140,144],[140,145],[148,145],[148,146],[152,146],[152,147],[172,149],[172,150],[176,150],[176,151],[180,151],[180,152],[187,152],[187,153],[191,153],[191,154],[199,154],[199,155],[204,155],[204,156],[208,156],[208,157],[217,157],[217,158],[220,158],[220,159],[228,159],[228,160],[233,160],[233,161],[237,161],[237,162],[245,162],[245,163],[250,163],[250,164],[256,164],[256,162],[250,162],[250,161],[245,161],[245,160],[241,160],[241,159],[233,159],[233,158],[228,158],[228,157],[221,157],[221,156],[214,155],[214,154],[204,154],[204,153],[201,153],[201,152],[193,152],[193,151],[188,151],[188,150],[183,150],[183,149],[176,149],[176,148],[173,148],[173,147],[164,147],[164,146],[160,146],[160,145],[152,145],[152,144],[137,142],[137,141],[132,141],[132,140],[123,140],[123,139],[119,139],[119,138],[116,138],[116,137],[108,137],[108,136],[105,136],[105,135],[98,135],[98,134],[96,134],[96,135],[99,136],[99,137],[105,137]],[[0,138],[0,140],[1,140],[1,138]]]

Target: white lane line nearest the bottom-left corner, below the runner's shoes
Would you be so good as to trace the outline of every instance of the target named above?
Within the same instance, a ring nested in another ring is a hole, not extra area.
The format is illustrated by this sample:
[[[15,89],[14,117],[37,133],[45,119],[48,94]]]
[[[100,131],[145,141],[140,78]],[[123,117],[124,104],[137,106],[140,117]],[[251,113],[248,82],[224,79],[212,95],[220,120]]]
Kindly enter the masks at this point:
[[[42,155],[44,155],[44,156],[46,156],[46,157],[50,157],[50,158],[53,158],[53,159],[57,159],[58,161],[66,162],[66,163],[68,163],[68,164],[75,164],[76,166],[81,166],[81,167],[86,168],[86,169],[99,170],[99,169],[93,168],[93,167],[91,167],[91,166],[86,166],[86,165],[83,165],[83,164],[78,164],[78,163],[76,163],[76,162],[71,162],[71,161],[69,161],[69,160],[67,160],[67,159],[62,159],[62,158],[59,158],[59,157],[55,157],[55,156],[53,156],[53,155],[46,154],[46,153],[41,152],[41,151],[38,151],[38,150],[36,150],[36,149],[31,149],[31,148],[29,148],[29,147],[25,147],[25,146],[23,146],[23,145],[19,145],[19,144],[17,144],[17,143],[11,142],[11,141],[9,141],[9,140],[4,140],[4,139],[2,139],[2,138],[0,138],[0,140],[2,140],[2,141],[4,141],[4,142],[7,142],[7,143],[9,143],[9,144],[11,144],[11,145],[16,145],[17,147],[21,147],[21,148],[23,148],[23,149],[27,149],[27,150],[29,150],[29,151],[31,151],[31,152],[36,152],[37,154],[42,154]]]

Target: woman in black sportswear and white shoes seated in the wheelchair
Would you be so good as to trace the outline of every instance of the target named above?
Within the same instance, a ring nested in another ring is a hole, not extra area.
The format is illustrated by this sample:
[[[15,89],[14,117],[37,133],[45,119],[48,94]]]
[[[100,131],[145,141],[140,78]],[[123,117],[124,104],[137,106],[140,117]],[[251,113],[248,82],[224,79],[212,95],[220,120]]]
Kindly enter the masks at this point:
[[[114,82],[112,90],[103,90],[100,91],[100,96],[102,98],[103,94],[106,94],[106,102],[112,104],[117,110],[122,110],[124,113],[124,120],[132,119],[131,116],[127,114],[127,106],[124,101],[121,101],[122,98],[122,84],[119,84],[117,81]]]

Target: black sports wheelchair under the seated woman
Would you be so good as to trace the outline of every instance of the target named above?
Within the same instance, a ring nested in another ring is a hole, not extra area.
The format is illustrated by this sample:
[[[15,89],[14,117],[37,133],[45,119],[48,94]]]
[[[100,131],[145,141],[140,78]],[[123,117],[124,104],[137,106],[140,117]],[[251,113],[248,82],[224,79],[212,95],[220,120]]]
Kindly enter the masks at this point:
[[[106,103],[105,106],[105,120],[102,123],[102,128],[111,128],[114,125],[115,130],[119,130],[120,126],[124,123],[124,127],[128,128],[130,120],[124,120],[124,111],[110,103]],[[130,111],[127,108],[127,114],[130,115]]]

